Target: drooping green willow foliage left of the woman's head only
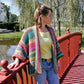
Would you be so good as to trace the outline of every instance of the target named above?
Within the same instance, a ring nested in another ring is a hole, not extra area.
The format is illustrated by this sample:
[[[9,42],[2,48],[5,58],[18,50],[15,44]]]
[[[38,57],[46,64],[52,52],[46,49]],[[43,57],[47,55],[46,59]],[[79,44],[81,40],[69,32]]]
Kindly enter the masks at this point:
[[[29,26],[34,25],[34,11],[39,5],[39,2],[33,2],[29,0],[15,0],[16,4],[18,4],[18,7],[20,8],[20,16],[19,16],[19,22],[20,22],[20,28],[23,29],[27,28]]]

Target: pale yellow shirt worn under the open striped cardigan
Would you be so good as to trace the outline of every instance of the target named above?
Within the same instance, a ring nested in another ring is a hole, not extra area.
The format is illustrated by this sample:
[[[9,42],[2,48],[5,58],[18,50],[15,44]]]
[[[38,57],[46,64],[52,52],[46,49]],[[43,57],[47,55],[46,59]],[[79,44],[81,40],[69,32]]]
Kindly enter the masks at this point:
[[[51,59],[52,39],[49,32],[39,32],[41,58]]]

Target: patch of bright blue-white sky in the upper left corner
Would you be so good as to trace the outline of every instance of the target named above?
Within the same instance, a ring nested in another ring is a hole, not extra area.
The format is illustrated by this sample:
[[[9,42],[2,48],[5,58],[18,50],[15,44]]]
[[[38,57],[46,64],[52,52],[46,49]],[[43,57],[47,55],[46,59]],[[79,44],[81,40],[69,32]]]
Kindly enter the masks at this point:
[[[5,5],[10,6],[10,12],[12,14],[19,15],[19,9],[18,6],[15,5],[13,0],[0,0],[0,2],[3,2]]]

